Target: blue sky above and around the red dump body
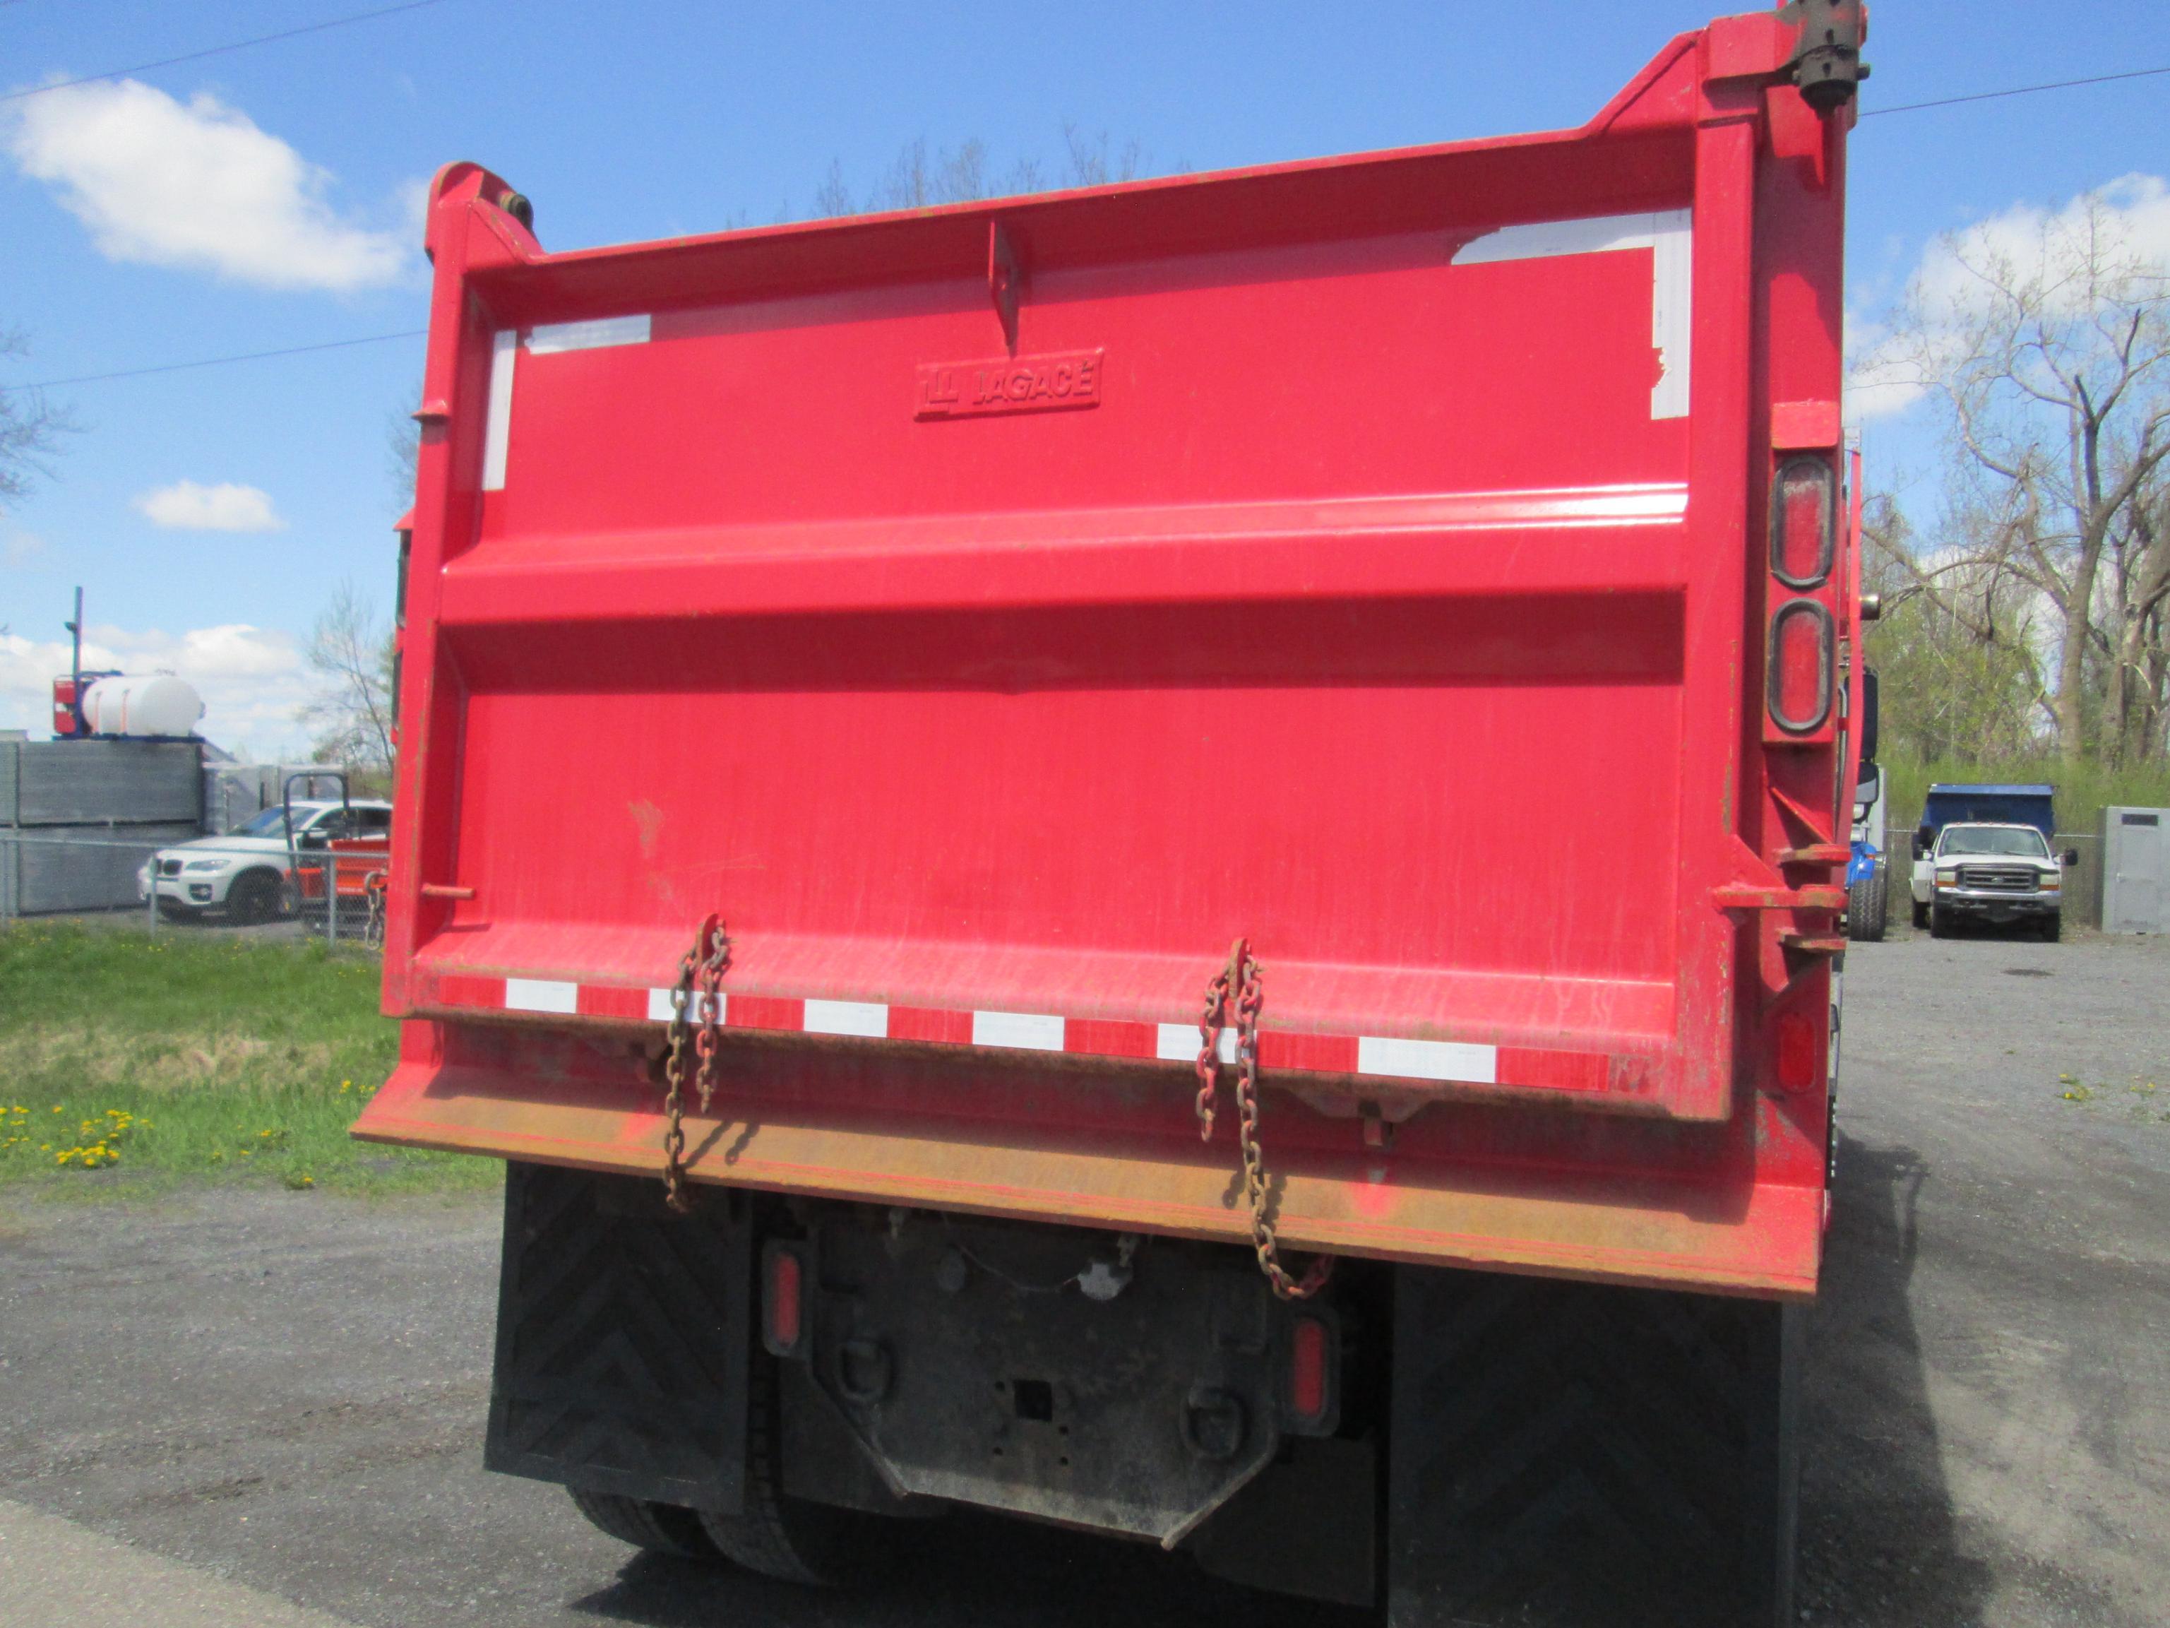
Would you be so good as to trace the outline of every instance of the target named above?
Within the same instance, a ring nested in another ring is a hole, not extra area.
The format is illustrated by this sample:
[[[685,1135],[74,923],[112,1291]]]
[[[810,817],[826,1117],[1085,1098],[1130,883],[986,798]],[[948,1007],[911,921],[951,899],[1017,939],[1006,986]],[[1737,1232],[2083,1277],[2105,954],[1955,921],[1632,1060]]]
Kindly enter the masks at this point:
[[[4,0],[0,89],[369,9]],[[1068,122],[1115,148],[1137,143],[1157,174],[1578,124],[1708,15],[1671,0],[441,0],[135,74],[178,98],[169,111],[148,91],[115,93],[78,104],[65,128],[33,128],[26,109],[50,98],[0,104],[0,326],[24,328],[35,347],[28,363],[0,365],[0,382],[421,328],[414,195],[449,158],[508,176],[536,200],[545,245],[579,247],[812,215],[831,163],[866,187],[914,139],[979,137],[996,169],[1020,156],[1052,169]],[[1981,9],[1957,0],[1881,0],[1866,54],[1864,106],[1892,106],[2170,65],[2170,11],[2075,0],[1983,26]],[[226,115],[187,111],[204,96]],[[1864,122],[1851,304],[1873,319],[1938,232],[2170,171],[2166,104],[2170,78],[2155,78]],[[130,137],[130,117],[152,135]],[[234,137],[237,117],[260,139]],[[206,150],[239,154],[271,202],[189,198],[187,143],[156,135],[167,126],[208,130]],[[152,158],[137,161],[143,141]],[[260,241],[204,247],[191,232],[219,208],[273,219]],[[267,287],[280,282],[302,287]],[[412,406],[419,356],[410,339],[54,391],[85,432],[67,438],[52,482],[0,514],[0,727],[43,729],[43,684],[80,582],[102,649],[200,682],[206,734],[260,755],[299,745],[295,643],[341,580],[388,608],[388,525],[404,504],[386,423]],[[1918,410],[1873,421],[1868,445],[1892,471],[1933,462]],[[258,530],[206,530],[232,525]]]

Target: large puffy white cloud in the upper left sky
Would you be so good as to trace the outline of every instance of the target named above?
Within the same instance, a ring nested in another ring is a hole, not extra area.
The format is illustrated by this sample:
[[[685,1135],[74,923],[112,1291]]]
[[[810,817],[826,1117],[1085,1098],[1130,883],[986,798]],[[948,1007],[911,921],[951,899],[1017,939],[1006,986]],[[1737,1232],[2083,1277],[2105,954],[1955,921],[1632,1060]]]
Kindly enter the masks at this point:
[[[7,143],[108,260],[339,293],[414,267],[414,239],[341,217],[330,171],[213,96],[182,104],[137,80],[43,91]]]

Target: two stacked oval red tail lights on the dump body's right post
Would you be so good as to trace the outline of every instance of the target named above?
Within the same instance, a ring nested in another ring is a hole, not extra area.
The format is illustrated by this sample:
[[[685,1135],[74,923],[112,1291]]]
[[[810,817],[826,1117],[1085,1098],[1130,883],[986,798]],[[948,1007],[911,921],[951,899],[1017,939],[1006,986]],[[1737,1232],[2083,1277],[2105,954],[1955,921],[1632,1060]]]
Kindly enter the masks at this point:
[[[1771,636],[1764,688],[1782,740],[1823,734],[1838,688],[1831,567],[1838,556],[1838,473],[1823,454],[1795,454],[1771,478]]]

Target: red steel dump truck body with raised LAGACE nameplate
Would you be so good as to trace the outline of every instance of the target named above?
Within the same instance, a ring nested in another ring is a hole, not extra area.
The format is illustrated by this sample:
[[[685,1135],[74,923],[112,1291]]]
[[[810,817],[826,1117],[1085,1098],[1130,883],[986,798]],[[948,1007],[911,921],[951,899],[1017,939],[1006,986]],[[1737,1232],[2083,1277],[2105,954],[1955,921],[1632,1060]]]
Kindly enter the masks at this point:
[[[362,1135],[1801,1296],[1858,690],[1795,30],[1565,132],[549,254],[451,165]],[[1224,1120],[1226,1127],[1226,1120]]]

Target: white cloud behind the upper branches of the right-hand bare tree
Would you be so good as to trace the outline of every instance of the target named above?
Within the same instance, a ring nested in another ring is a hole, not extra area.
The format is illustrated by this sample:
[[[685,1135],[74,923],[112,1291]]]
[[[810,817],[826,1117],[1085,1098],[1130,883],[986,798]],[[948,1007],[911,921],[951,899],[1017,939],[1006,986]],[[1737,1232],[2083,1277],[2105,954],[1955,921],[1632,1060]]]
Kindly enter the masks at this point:
[[[2079,274],[2109,267],[2109,278]],[[1994,267],[2005,287],[2040,295],[2044,315],[2081,317],[2098,302],[2129,293],[2129,274],[2170,274],[2170,182],[2161,176],[2118,176],[2057,208],[2012,204],[1923,250],[1905,287],[1914,336],[1847,313],[1847,417],[1903,412],[1927,393],[1927,376],[1949,354],[1957,332],[1994,300],[1981,271]],[[2122,282],[2122,287],[2120,287]]]

